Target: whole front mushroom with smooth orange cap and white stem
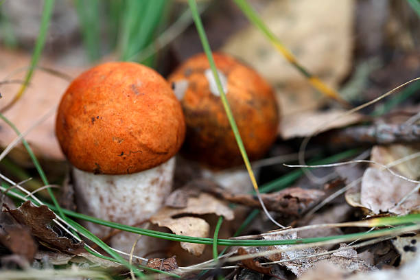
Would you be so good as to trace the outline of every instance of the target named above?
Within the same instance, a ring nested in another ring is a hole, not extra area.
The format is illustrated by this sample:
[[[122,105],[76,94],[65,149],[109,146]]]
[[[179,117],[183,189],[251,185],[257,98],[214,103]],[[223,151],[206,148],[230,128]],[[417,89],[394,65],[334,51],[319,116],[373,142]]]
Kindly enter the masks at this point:
[[[185,121],[159,73],[137,63],[108,62],[71,82],[58,107],[56,135],[73,165],[79,211],[136,225],[170,193]],[[86,226],[100,237],[110,233]],[[129,252],[137,237],[120,233],[111,245]],[[136,252],[145,253],[148,246],[139,242]]]

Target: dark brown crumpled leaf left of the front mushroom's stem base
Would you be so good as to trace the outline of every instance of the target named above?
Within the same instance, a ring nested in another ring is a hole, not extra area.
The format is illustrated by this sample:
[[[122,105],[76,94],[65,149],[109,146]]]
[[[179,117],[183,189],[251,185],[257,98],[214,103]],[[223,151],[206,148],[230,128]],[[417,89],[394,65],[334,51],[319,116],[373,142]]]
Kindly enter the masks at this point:
[[[69,238],[59,236],[51,228],[51,222],[56,215],[47,206],[36,207],[27,201],[17,209],[6,209],[17,222],[27,226],[40,242],[73,255],[84,252],[84,242],[72,243]]]

